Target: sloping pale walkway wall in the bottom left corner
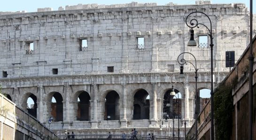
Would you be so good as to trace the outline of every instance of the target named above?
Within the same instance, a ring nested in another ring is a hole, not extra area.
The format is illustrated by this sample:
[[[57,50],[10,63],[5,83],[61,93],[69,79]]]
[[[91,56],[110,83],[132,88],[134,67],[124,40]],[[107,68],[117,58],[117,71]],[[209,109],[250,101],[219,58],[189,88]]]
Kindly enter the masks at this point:
[[[57,140],[58,137],[39,120],[0,94],[0,140]]]

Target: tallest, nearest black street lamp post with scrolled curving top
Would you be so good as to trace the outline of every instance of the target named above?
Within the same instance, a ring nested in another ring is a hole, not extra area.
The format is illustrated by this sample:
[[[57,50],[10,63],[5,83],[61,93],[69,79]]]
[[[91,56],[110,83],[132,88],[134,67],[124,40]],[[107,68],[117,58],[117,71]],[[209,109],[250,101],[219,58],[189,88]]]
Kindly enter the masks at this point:
[[[209,19],[209,23],[210,23],[210,28],[208,28],[206,25],[202,24],[202,23],[198,23],[198,21],[196,19],[191,19],[190,22],[187,22],[187,18],[191,15],[191,14],[197,14],[197,13],[201,13],[203,15],[205,15],[208,19]],[[211,140],[214,140],[214,122],[213,122],[213,116],[214,116],[214,108],[213,108],[213,37],[212,37],[212,25],[211,25],[211,20],[209,18],[209,16],[203,12],[199,12],[199,11],[195,11],[192,12],[190,14],[187,15],[186,17],[186,25],[191,28],[190,29],[190,40],[187,43],[187,46],[196,46],[196,42],[194,41],[194,30],[193,28],[197,27],[199,28],[199,25],[204,26],[205,28],[207,28],[207,30],[209,31],[209,37],[210,37],[210,61],[211,61],[211,91],[210,91],[210,108],[211,108],[211,128],[210,128],[210,136],[211,136]]]

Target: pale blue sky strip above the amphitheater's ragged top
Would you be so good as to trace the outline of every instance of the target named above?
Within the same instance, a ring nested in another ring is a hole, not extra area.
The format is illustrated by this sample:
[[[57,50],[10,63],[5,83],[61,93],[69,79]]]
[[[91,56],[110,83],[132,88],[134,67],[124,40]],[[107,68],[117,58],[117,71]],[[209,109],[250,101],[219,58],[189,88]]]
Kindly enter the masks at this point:
[[[157,3],[157,5],[164,5],[169,2],[175,4],[195,4],[195,0],[2,0],[0,4],[1,12],[16,12],[16,11],[27,11],[37,12],[37,8],[51,7],[54,11],[58,10],[59,7],[78,4],[92,4],[97,3],[98,5],[105,4],[124,4],[131,3],[132,1],[138,3]],[[255,1],[255,0],[254,0]],[[250,7],[250,0],[211,0],[212,4],[216,3],[245,3],[247,7]],[[256,4],[253,4],[253,13],[256,14]]]

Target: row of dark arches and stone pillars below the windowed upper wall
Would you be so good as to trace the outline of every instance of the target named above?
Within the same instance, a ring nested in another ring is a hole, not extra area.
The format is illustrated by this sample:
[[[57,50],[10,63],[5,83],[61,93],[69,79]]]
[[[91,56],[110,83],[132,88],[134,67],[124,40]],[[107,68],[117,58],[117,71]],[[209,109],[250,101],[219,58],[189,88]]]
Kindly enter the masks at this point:
[[[113,85],[112,89],[108,85],[89,85],[82,88],[84,90],[76,90],[75,86],[71,85],[55,90],[41,86],[38,91],[27,92],[21,98],[23,100],[16,101],[42,122],[47,122],[50,116],[54,117],[54,122],[185,117],[193,119],[193,109],[189,106],[194,106],[194,94],[191,92],[192,94],[185,95],[184,92],[188,92],[188,88],[186,91],[183,86],[177,85],[175,92],[179,97],[174,97],[170,96],[170,84],[141,84],[137,89],[128,85],[119,85],[118,88]],[[10,95],[8,97],[11,98]]]

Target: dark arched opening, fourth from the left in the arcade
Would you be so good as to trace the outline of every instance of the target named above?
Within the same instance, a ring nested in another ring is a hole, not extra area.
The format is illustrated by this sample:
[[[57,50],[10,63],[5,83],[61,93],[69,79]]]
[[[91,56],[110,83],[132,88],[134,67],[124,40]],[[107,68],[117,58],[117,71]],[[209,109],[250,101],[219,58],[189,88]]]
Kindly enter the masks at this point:
[[[116,91],[110,91],[106,96],[105,103],[105,120],[118,120],[120,119],[119,113],[119,95]]]

